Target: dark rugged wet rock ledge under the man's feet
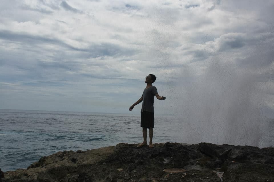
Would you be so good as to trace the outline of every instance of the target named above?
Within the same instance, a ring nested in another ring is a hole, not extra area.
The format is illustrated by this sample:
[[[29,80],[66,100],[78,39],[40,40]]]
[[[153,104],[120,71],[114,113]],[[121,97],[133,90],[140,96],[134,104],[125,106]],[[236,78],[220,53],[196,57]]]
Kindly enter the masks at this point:
[[[7,171],[3,182],[269,181],[274,148],[200,143],[117,144],[42,157],[27,169]]]

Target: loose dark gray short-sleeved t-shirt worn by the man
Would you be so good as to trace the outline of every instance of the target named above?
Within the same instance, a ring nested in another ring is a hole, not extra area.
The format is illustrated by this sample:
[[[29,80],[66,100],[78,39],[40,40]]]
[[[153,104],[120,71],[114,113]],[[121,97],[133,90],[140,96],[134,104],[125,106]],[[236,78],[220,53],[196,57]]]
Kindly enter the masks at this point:
[[[154,113],[154,96],[157,94],[157,88],[155,86],[151,86],[149,88],[145,88],[143,92],[143,104],[141,112],[147,111]]]

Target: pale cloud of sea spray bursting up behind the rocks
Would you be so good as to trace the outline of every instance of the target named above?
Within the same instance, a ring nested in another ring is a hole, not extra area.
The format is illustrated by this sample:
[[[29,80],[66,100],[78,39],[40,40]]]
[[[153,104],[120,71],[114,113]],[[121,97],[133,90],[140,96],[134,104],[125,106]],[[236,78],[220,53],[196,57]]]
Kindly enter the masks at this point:
[[[263,134],[268,126],[262,114],[264,96],[258,76],[219,57],[182,68],[173,98],[185,126],[187,143],[271,146]]]

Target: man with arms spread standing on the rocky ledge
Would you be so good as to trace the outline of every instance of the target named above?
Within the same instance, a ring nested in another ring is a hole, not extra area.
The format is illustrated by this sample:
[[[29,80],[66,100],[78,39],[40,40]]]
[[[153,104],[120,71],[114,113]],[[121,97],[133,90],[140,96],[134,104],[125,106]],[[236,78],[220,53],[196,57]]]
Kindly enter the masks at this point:
[[[143,143],[139,144],[138,147],[147,146],[148,143],[146,141],[147,134],[149,132],[149,147],[153,148],[152,137],[153,137],[153,128],[154,128],[154,96],[156,96],[159,100],[165,100],[165,97],[159,96],[157,92],[157,88],[152,85],[156,80],[156,76],[153,74],[149,74],[146,76],[146,88],[144,89],[142,97],[137,100],[132,106],[129,107],[129,110],[132,111],[133,107],[137,104],[142,104],[141,109],[141,127],[143,128]],[[148,131],[147,131],[148,128]]]

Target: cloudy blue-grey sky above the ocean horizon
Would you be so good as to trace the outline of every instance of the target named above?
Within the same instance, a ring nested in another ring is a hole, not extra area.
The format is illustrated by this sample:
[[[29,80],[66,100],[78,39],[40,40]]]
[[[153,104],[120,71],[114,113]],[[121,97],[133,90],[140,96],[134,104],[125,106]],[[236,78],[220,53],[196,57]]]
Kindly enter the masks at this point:
[[[273,9],[272,0],[1,0],[0,108],[129,113],[152,73],[166,97],[155,99],[158,114],[272,117]]]

